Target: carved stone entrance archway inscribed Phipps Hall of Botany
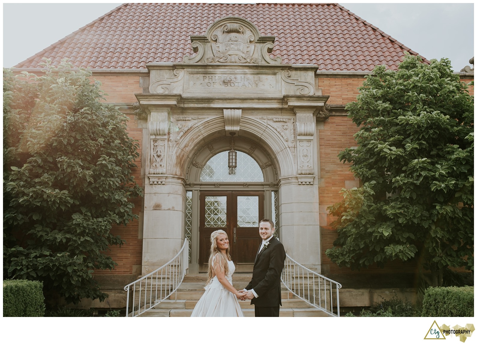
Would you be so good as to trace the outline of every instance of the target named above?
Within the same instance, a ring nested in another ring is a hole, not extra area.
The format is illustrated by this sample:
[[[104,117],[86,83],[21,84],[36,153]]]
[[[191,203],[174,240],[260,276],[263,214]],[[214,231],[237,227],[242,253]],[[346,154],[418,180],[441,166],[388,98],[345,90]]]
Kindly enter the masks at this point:
[[[136,94],[148,121],[143,273],[182,246],[186,190],[197,188],[190,184],[197,166],[213,150],[226,150],[231,133],[244,152],[260,147],[252,154],[268,188],[278,189],[285,249],[320,271],[316,121],[326,118],[328,96],[316,87],[316,66],[280,64],[269,56],[273,38],[259,37],[241,18],[215,22],[206,36],[192,37],[197,55],[184,63],[148,64],[150,93]],[[232,47],[223,40],[229,36],[243,44]]]

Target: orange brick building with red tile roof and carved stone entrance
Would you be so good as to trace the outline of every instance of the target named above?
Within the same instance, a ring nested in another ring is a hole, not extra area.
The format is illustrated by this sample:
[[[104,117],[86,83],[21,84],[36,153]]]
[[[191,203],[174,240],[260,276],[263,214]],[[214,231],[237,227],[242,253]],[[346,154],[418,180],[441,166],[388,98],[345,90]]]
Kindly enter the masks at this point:
[[[96,272],[106,292],[164,264],[186,238],[189,271],[205,271],[216,228],[250,271],[259,218],[275,219],[293,259],[348,288],[406,288],[413,263],[357,272],[324,254],[336,238],[326,208],[359,185],[337,158],[357,131],[344,106],[375,65],[397,69],[406,52],[417,55],[338,4],[131,3],[15,67],[40,73],[41,58],[70,58],[130,118],[145,195],[134,200],[139,219],[115,229],[126,241],[112,249],[118,266]],[[120,307],[121,291],[112,295]]]

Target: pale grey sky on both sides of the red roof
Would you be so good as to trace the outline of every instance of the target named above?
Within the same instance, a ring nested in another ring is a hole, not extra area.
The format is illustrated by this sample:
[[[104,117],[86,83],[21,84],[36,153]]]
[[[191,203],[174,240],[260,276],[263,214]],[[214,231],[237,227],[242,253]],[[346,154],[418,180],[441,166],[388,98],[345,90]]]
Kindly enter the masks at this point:
[[[473,2],[340,4],[426,59],[450,59],[456,72],[474,56]],[[13,67],[119,5],[3,3],[2,66]]]

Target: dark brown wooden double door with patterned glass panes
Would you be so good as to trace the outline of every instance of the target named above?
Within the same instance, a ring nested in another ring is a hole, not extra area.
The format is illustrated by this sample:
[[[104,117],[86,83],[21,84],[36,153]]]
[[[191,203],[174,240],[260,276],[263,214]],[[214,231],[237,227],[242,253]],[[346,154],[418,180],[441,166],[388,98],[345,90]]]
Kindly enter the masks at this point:
[[[259,220],[264,214],[263,191],[201,191],[199,221],[199,271],[207,271],[210,234],[222,229],[228,235],[236,271],[253,270],[259,248]]]

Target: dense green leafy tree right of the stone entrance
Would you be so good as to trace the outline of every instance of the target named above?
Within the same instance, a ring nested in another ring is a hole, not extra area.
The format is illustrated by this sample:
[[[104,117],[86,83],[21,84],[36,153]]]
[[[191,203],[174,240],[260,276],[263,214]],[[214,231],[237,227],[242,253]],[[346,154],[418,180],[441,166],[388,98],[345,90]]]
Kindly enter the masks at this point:
[[[329,207],[326,255],[353,269],[414,259],[433,286],[448,267],[473,271],[474,100],[450,61],[377,66],[346,109],[361,127],[339,158],[363,184]]]

